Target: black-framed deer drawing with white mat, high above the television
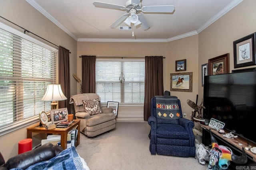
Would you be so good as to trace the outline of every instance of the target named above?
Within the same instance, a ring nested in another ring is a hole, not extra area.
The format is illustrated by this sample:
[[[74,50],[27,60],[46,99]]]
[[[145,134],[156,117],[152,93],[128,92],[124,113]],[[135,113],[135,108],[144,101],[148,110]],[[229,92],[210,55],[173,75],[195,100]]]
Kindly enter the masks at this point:
[[[255,37],[256,32],[233,42],[234,68],[256,64]]]

